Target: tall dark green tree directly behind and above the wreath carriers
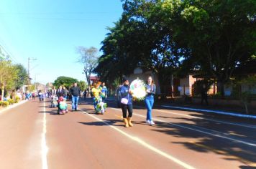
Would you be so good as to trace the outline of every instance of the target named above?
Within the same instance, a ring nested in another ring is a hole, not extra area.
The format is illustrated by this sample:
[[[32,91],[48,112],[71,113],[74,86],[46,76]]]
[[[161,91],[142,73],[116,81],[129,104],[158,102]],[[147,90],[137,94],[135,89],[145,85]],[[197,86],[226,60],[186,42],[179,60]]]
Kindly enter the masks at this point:
[[[133,72],[137,66],[157,73],[160,88],[170,83],[170,74],[180,64],[183,50],[175,46],[169,25],[161,24],[165,19],[161,1],[124,1],[122,19],[102,42],[95,71],[105,81]]]

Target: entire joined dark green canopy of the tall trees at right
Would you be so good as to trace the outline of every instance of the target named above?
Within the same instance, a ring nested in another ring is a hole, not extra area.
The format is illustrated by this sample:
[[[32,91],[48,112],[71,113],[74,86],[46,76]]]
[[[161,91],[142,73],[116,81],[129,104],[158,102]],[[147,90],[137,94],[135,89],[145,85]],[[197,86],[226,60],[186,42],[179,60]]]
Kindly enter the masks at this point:
[[[123,9],[102,42],[94,69],[101,78],[114,81],[140,65],[164,84],[170,73],[196,70],[223,89],[235,69],[255,63],[254,0],[124,0]]]

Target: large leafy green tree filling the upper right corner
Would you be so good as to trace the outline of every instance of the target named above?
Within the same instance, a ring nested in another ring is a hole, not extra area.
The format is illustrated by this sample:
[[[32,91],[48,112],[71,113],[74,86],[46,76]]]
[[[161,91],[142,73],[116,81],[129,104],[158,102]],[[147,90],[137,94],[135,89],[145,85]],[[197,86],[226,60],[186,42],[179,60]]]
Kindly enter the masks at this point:
[[[175,19],[174,41],[191,50],[191,69],[224,83],[256,52],[256,1],[184,0]]]

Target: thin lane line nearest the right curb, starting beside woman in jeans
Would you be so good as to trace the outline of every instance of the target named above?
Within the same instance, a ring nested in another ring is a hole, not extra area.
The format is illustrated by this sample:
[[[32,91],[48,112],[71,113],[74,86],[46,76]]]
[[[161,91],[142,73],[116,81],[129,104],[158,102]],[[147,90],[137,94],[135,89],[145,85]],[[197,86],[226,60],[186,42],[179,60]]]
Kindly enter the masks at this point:
[[[136,107],[143,108],[143,107],[141,107],[141,106],[136,106]],[[182,115],[182,114],[179,114],[179,113],[170,112],[170,111],[165,111],[165,110],[156,110],[156,109],[155,109],[155,111],[157,111],[157,112],[167,112],[167,113],[169,113],[169,114],[180,115],[180,116],[184,116],[184,117],[192,117],[192,118],[195,118],[195,119],[208,120],[208,121],[211,121],[211,122],[221,122],[221,123],[227,124],[227,125],[237,125],[237,126],[239,126],[239,127],[248,127],[248,128],[256,129],[255,126],[252,126],[252,125],[244,125],[244,124],[237,123],[237,122],[224,122],[224,121],[221,121],[221,120],[212,120],[212,119],[209,119],[209,118],[196,117],[196,116],[193,116],[193,115]]]

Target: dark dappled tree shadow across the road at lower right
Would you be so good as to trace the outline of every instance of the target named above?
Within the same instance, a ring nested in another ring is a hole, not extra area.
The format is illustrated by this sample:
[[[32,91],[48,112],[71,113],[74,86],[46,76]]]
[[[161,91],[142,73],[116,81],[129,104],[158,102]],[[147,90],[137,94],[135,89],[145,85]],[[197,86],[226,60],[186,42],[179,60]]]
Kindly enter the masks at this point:
[[[232,127],[232,130],[227,125],[221,125],[221,123],[214,123],[213,128],[212,122],[198,118],[179,117],[177,119],[181,120],[181,122],[156,122],[157,125],[152,130],[183,138],[186,141],[171,143],[183,145],[190,150],[200,153],[216,153],[222,155],[224,160],[237,160],[249,166],[252,163],[256,163],[256,146],[244,144],[248,142],[256,145],[254,138],[255,130],[254,132],[246,129],[245,131],[234,130],[236,129],[235,127]],[[239,127],[237,128],[239,129]],[[202,132],[197,132],[196,130],[201,130]],[[244,135],[244,132],[246,135]],[[210,133],[211,135],[207,135],[206,133]],[[216,137],[216,135],[220,135],[220,137]],[[241,140],[244,143],[237,143],[234,140],[228,140],[223,137]]]

